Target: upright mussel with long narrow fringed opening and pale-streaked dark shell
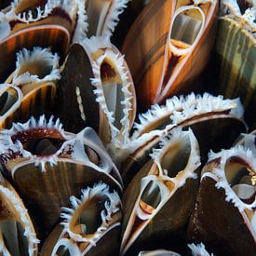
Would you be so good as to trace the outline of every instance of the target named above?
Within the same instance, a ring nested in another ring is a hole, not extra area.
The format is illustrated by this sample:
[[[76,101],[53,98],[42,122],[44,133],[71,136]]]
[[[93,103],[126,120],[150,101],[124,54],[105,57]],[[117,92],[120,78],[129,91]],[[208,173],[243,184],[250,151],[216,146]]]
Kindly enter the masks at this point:
[[[67,126],[72,115],[78,118],[79,125],[92,126],[105,145],[125,143],[135,118],[136,105],[126,61],[107,36],[85,39],[81,45],[83,49],[74,45],[67,57],[59,96],[64,106],[58,115]],[[83,67],[85,71],[74,73],[74,63],[76,69]],[[72,115],[67,119],[67,113],[71,111]]]

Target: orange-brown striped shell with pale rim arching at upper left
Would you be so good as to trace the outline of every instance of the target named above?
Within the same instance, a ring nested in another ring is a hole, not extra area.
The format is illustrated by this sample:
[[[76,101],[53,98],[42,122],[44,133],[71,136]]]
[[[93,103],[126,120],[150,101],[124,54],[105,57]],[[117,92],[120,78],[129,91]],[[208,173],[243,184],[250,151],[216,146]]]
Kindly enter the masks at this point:
[[[0,82],[4,83],[15,69],[16,53],[23,47],[51,47],[61,57],[66,54],[70,44],[69,32],[58,25],[44,25],[21,30],[10,35],[0,43]]]

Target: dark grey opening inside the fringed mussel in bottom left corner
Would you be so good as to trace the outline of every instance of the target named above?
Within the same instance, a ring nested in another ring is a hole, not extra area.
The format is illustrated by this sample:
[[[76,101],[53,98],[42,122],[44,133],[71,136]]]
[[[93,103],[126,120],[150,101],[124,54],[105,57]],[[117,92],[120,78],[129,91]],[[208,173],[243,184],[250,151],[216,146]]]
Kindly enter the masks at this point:
[[[0,237],[10,255],[29,255],[29,243],[20,222],[5,220],[0,222]]]

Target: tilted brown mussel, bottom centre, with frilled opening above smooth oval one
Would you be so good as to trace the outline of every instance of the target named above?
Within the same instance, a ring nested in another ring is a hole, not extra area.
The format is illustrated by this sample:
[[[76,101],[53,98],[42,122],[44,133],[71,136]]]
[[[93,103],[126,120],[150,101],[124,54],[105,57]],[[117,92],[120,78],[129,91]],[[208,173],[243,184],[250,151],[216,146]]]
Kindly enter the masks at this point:
[[[151,241],[155,247],[164,241],[181,245],[182,228],[195,204],[200,155],[192,130],[173,130],[151,156],[123,197],[122,255],[138,253]]]

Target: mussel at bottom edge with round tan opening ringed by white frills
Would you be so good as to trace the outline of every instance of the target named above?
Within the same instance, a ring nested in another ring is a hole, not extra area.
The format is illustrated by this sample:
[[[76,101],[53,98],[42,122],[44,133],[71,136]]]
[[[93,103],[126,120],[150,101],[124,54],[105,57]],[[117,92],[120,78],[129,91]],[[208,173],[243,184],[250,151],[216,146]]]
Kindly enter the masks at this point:
[[[82,190],[81,199],[71,196],[70,201],[71,208],[62,208],[62,231],[48,236],[42,255],[117,255],[122,218],[118,194],[97,183]]]

